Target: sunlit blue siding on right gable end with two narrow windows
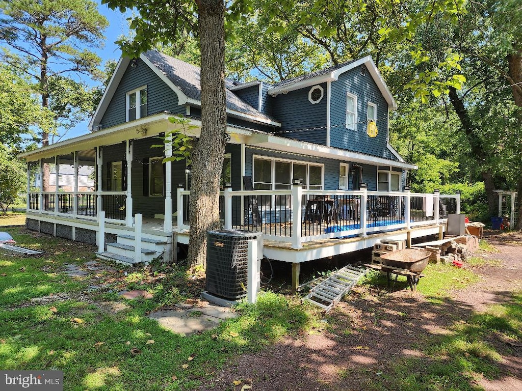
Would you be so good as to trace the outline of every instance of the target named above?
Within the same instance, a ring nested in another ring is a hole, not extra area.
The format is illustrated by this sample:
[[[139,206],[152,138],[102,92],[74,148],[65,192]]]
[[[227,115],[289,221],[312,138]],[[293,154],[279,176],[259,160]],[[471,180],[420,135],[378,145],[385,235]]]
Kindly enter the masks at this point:
[[[357,95],[357,130],[346,129],[346,93]],[[359,68],[351,69],[331,82],[330,145],[350,151],[397,160],[388,150],[388,104],[369,73],[361,76]],[[366,133],[367,103],[377,105],[377,137]]]

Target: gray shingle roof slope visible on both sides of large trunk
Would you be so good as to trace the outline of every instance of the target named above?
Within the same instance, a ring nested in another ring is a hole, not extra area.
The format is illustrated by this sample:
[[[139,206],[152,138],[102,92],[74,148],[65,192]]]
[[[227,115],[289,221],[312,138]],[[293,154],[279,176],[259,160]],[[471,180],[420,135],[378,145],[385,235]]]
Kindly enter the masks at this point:
[[[201,70],[199,67],[157,51],[148,51],[145,53],[145,56],[187,97],[201,102]],[[229,88],[234,87],[232,80],[225,79],[225,85],[227,88],[227,107],[229,109],[265,120],[277,121],[277,119],[259,112],[232,91],[229,91]]]

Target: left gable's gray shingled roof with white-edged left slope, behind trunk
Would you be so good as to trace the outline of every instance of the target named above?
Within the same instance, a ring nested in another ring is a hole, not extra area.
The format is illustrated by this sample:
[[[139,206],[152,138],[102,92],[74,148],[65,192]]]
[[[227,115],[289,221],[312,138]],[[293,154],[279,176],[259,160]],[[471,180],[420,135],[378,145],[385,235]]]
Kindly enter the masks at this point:
[[[180,105],[191,104],[201,106],[201,69],[199,67],[157,51],[143,53],[140,55],[140,59],[172,88],[178,96]],[[91,130],[100,123],[130,61],[128,57],[120,58],[114,74],[109,81],[109,85],[105,89],[98,108],[89,123]],[[232,80],[225,79],[225,87],[227,88],[226,103],[228,114],[258,123],[281,126],[278,120],[259,112],[240,97],[236,96],[230,90],[236,87]]]

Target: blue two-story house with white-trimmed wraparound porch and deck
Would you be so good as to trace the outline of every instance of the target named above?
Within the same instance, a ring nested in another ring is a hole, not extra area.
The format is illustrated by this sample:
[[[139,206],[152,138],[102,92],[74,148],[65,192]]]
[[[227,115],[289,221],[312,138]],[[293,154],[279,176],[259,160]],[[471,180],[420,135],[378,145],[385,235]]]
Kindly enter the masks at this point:
[[[227,80],[226,88],[222,180],[232,188],[220,213],[225,228],[262,230],[265,256],[296,264],[371,247],[377,232],[395,231],[395,239],[441,232],[452,209],[442,213],[437,200],[452,196],[405,191],[416,166],[388,142],[396,103],[371,57],[274,85]],[[193,126],[172,123],[173,115]],[[55,164],[58,178],[70,165],[76,178],[73,191],[28,191],[28,227],[98,243],[121,262],[170,258],[176,242],[188,242],[190,167],[163,162],[172,151],[153,145],[170,130],[198,137],[200,115],[198,67],[155,51],[121,58],[90,132],[21,155],[30,171]],[[78,191],[81,166],[95,167],[96,190]],[[294,178],[302,186],[292,186]]]

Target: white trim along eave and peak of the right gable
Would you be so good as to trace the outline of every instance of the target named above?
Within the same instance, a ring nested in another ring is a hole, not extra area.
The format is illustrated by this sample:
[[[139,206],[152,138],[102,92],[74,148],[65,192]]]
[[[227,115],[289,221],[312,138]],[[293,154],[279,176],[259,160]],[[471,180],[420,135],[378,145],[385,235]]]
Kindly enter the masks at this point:
[[[366,57],[360,58],[357,61],[354,61],[354,62],[352,62],[350,64],[347,64],[347,65],[345,65],[345,66],[343,66],[343,67],[341,67],[339,69],[336,69],[336,70],[334,70],[334,71],[332,71],[332,72],[330,72],[329,74],[326,74],[326,75],[319,75],[319,76],[312,77],[312,78],[305,79],[305,80],[301,80],[301,81],[298,81],[298,82],[295,82],[295,83],[285,84],[285,85],[282,85],[281,87],[271,88],[270,90],[268,90],[268,93],[271,96],[276,96],[278,94],[284,94],[284,93],[287,93],[287,92],[290,92],[290,91],[299,90],[301,88],[305,88],[305,87],[308,87],[310,85],[314,85],[314,84],[318,84],[318,83],[324,83],[324,82],[327,82],[327,81],[335,81],[335,80],[337,80],[339,78],[339,76],[341,74],[349,71],[350,69],[356,68],[356,67],[358,67],[358,66],[360,66],[362,64],[366,65],[366,71],[370,73],[370,75],[372,76],[373,80],[377,84],[378,89],[381,91],[381,93],[384,96],[384,99],[388,103],[388,107],[392,108],[393,110],[397,109],[397,103],[395,102],[395,99],[394,99],[392,93],[388,89],[388,86],[386,85],[386,82],[382,78],[381,73],[377,69],[377,66],[375,65],[375,63],[373,62],[372,57],[370,57],[370,56],[366,56]]]

